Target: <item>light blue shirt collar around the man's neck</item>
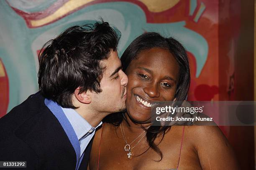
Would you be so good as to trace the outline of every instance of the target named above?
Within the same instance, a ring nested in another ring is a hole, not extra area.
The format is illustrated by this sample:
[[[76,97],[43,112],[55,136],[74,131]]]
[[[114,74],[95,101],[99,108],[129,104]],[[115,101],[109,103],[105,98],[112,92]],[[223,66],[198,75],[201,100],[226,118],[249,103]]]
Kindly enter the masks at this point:
[[[102,122],[100,122],[96,128],[92,127],[81,115],[79,115],[74,109],[61,107],[64,114],[67,116],[70,124],[72,125],[78,140],[80,140],[86,133],[92,133],[98,128]]]

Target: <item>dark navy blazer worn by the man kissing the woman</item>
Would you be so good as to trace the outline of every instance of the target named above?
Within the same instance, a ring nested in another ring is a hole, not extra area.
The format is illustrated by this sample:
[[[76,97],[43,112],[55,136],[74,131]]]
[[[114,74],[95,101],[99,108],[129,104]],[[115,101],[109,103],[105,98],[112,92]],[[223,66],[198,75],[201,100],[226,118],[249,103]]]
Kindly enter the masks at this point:
[[[29,170],[75,170],[75,150],[44,100],[38,92],[0,118],[0,161],[26,161]],[[87,167],[92,140],[79,169]]]

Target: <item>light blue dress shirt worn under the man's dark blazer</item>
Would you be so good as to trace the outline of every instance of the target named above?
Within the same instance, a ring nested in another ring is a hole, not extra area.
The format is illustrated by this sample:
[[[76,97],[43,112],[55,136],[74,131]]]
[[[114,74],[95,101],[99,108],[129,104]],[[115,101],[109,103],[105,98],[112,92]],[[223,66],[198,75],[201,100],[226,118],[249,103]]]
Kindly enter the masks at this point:
[[[81,157],[90,140],[92,140],[92,137],[95,134],[95,129],[98,128],[102,124],[102,122],[100,122],[99,125],[97,125],[97,127],[94,128],[74,109],[62,108],[62,110],[64,114],[67,116],[67,119],[69,120],[77,135],[80,144]]]

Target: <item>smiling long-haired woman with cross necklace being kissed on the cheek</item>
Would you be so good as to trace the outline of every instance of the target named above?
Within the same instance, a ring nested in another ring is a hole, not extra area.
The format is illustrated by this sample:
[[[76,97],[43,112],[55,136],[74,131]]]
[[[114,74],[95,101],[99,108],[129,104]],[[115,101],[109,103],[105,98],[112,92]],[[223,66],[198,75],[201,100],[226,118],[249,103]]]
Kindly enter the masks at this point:
[[[238,169],[217,126],[151,126],[154,103],[187,96],[189,63],[177,40],[145,33],[129,45],[121,62],[128,76],[126,112],[105,118],[88,169]]]

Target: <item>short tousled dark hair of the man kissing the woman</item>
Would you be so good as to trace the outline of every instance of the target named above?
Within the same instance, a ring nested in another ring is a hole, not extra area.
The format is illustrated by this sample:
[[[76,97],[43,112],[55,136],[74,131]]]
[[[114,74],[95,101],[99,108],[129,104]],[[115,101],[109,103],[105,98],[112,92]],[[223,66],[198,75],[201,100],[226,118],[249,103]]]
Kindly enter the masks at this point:
[[[87,90],[101,92],[105,69],[101,60],[116,50],[120,36],[101,21],[94,25],[73,26],[49,40],[39,53],[38,84],[41,94],[61,107],[76,108],[72,94]]]

